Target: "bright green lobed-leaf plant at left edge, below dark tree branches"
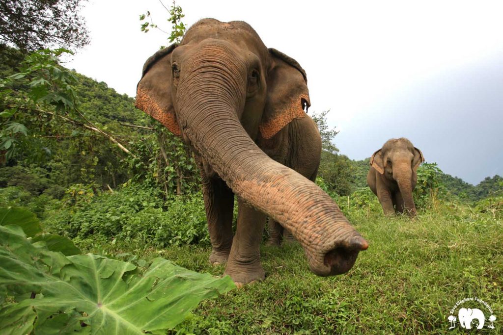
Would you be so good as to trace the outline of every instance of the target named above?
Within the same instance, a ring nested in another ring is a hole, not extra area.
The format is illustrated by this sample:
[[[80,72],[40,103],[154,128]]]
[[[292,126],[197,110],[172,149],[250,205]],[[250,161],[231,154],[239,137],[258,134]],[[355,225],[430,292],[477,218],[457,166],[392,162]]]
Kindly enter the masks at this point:
[[[26,122],[31,123],[35,118],[36,123],[40,119],[54,116],[54,110],[60,116],[75,114],[77,98],[72,84],[75,83],[75,75],[59,65],[58,58],[70,53],[66,49],[49,50],[43,49],[26,56],[18,73],[10,75],[0,84],[0,96],[3,97],[0,107],[2,120],[0,124],[5,126],[0,132],[0,149],[4,150],[5,159],[12,160],[18,151],[24,146],[39,148],[36,151],[38,160],[44,154],[50,154],[50,150],[39,145],[34,140],[34,135],[43,133],[43,127],[27,129]],[[28,137],[30,133],[30,136]]]

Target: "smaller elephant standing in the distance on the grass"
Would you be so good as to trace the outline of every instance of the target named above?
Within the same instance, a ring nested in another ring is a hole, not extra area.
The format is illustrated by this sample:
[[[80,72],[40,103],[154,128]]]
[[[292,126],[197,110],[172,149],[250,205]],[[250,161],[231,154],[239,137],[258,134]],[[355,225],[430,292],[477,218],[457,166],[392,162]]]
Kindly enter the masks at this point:
[[[370,158],[367,184],[379,198],[384,214],[406,211],[416,215],[412,191],[417,168],[425,161],[421,150],[406,138],[391,139]]]

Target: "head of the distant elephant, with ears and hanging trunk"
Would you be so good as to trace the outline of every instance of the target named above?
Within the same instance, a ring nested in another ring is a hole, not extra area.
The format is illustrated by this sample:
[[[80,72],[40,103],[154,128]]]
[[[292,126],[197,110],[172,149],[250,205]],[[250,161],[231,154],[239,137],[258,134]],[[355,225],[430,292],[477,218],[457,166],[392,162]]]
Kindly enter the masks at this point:
[[[425,161],[421,150],[406,138],[391,139],[370,158],[370,164],[385,179],[395,181],[410,216],[416,215],[412,191],[417,182],[417,168]]]

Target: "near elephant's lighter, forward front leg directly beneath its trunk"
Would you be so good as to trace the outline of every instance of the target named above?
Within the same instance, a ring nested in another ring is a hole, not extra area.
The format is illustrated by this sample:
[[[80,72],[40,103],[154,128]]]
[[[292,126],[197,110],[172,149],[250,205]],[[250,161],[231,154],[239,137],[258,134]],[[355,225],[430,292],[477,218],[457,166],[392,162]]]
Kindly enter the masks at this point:
[[[260,242],[266,224],[266,214],[238,199],[237,229],[232,242],[225,274],[236,283],[246,284],[265,278],[260,263]]]

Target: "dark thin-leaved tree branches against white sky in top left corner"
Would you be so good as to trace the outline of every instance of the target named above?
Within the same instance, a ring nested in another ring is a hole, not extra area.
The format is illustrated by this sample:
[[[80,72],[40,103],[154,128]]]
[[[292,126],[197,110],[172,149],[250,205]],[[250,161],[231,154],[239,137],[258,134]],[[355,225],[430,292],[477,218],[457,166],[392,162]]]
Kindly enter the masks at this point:
[[[80,48],[89,32],[79,15],[86,0],[0,0],[0,43],[23,51]]]

